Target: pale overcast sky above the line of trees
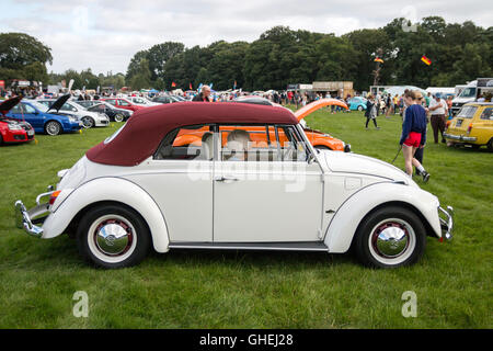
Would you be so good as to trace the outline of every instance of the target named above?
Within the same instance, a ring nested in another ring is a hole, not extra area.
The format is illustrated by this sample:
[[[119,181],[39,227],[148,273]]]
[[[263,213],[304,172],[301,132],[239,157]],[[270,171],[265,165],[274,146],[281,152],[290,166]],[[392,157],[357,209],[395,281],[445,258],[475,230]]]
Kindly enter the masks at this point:
[[[486,0],[1,0],[0,32],[23,32],[51,48],[48,71],[126,72],[134,54],[172,41],[186,47],[252,42],[275,25],[341,35],[394,18],[493,25]]]

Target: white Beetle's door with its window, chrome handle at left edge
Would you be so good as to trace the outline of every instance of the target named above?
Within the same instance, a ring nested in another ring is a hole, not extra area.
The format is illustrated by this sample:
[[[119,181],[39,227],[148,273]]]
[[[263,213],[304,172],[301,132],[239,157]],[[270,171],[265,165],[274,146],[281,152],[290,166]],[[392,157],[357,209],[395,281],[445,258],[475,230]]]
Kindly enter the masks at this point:
[[[311,148],[301,133],[293,125],[265,126],[264,135],[248,126],[219,127],[215,242],[320,240],[322,170],[309,161]]]

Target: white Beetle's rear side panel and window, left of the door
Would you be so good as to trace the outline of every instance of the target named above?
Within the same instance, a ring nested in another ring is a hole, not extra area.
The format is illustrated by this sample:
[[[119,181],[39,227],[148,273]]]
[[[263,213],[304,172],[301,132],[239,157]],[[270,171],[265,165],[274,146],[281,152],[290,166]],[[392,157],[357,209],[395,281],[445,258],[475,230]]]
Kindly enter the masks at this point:
[[[154,199],[171,242],[213,241],[214,151],[209,128],[195,125],[170,132],[145,169],[129,177]]]

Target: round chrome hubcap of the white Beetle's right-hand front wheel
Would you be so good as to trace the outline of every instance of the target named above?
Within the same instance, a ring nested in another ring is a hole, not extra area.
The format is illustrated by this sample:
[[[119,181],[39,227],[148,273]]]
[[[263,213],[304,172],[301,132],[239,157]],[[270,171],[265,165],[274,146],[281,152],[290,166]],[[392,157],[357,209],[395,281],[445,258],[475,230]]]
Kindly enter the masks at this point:
[[[371,234],[374,250],[383,258],[397,258],[404,253],[410,244],[409,229],[403,223],[386,222]]]

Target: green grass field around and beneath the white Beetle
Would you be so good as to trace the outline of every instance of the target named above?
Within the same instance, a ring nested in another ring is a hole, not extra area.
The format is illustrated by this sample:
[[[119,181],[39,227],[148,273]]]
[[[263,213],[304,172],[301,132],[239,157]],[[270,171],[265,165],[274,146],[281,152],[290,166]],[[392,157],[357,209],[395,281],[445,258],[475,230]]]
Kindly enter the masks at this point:
[[[390,162],[399,116],[364,128],[360,113],[308,117],[311,127],[349,143],[353,151]],[[451,242],[428,238],[411,268],[370,270],[351,254],[170,251],[140,265],[88,267],[67,236],[38,240],[13,224],[13,203],[33,206],[107,128],[0,147],[0,328],[492,328],[493,154],[428,144],[432,178],[417,183],[456,210]],[[402,155],[395,160],[403,168]],[[89,317],[76,318],[77,291]],[[402,294],[417,297],[404,318]]]

